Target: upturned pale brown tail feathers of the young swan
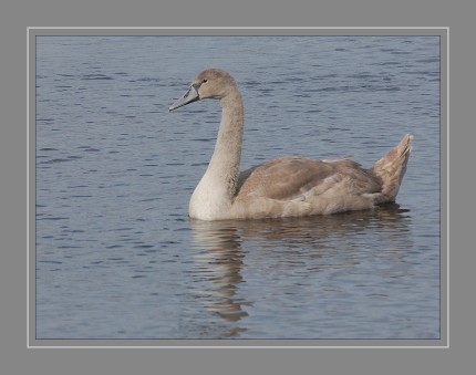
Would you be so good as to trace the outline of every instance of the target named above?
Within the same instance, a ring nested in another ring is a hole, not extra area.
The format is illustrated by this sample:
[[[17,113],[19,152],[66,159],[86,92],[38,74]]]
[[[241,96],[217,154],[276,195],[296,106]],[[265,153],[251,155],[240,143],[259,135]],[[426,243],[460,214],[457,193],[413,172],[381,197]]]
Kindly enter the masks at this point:
[[[412,152],[413,135],[406,134],[403,139],[392,148],[384,157],[377,160],[371,168],[382,180],[382,191],[375,194],[375,204],[391,202],[395,200],[400,184],[405,175],[406,164]]]

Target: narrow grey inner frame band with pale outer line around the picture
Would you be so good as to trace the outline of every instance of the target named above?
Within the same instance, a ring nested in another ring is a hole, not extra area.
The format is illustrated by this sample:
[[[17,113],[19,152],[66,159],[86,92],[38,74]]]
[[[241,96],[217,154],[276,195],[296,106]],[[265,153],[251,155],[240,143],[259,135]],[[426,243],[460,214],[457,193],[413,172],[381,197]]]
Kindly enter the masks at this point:
[[[449,346],[449,29],[448,28],[28,28],[28,347],[448,347]],[[35,37],[38,35],[437,35],[441,38],[439,340],[37,340]]]

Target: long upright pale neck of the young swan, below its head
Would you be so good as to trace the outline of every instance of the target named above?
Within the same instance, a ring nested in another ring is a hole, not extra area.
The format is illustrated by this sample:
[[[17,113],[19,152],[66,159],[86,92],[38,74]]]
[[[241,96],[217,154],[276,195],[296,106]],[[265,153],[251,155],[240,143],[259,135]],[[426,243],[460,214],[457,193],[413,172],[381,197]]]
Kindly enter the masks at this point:
[[[221,123],[208,168],[190,199],[189,215],[218,219],[229,211],[236,194],[241,157],[244,106],[238,88],[223,97]]]

